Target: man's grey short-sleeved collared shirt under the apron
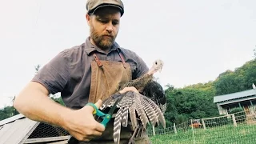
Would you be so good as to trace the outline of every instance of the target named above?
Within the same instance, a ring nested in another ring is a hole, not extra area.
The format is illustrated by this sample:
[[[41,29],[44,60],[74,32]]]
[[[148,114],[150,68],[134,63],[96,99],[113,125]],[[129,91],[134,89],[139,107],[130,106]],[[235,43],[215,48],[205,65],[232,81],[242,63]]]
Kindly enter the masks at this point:
[[[99,60],[122,62],[118,50],[125,62],[129,63],[133,79],[149,70],[142,58],[133,51],[123,49],[114,42],[114,46],[106,54],[92,45],[89,37],[82,45],[60,52],[39,70],[32,81],[41,83],[50,94],[61,92],[66,106],[80,109],[86,105],[90,94],[90,63],[94,61],[92,53],[97,54]]]

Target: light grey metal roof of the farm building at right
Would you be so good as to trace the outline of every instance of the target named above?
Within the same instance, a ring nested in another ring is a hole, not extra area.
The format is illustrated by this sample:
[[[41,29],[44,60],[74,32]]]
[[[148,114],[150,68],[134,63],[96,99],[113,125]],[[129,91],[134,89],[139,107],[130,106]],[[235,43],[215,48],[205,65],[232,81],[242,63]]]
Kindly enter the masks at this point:
[[[218,96],[214,97],[214,103],[224,102],[224,101],[228,101],[231,99],[249,97],[249,96],[253,96],[253,95],[256,95],[256,89],[244,90],[244,91],[240,91],[240,92],[232,93],[232,94],[218,95]]]

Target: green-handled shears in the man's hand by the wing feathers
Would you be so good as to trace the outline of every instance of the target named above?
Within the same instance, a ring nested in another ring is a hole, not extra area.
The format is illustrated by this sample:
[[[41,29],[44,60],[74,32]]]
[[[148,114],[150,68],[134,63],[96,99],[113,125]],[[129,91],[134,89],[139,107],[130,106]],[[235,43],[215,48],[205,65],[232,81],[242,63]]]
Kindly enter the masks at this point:
[[[114,110],[117,108],[118,102],[120,102],[122,97],[117,98],[117,100],[114,102],[114,105],[110,108],[110,111],[107,114],[104,114],[101,110],[98,110],[98,107],[94,105],[94,103],[87,103],[86,106],[93,106],[94,112],[93,114],[98,115],[98,117],[101,117],[103,121],[101,124],[106,127],[106,124],[110,122],[110,118],[112,118],[112,114],[114,113]]]

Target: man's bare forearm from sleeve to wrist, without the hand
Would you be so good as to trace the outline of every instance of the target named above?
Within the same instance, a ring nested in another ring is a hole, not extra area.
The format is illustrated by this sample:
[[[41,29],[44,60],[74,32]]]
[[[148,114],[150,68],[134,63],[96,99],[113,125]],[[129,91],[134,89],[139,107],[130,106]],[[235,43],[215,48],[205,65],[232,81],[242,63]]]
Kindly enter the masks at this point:
[[[51,100],[46,92],[38,90],[33,83],[15,98],[14,107],[27,118],[57,126],[65,124],[65,114],[70,112],[70,109]]]

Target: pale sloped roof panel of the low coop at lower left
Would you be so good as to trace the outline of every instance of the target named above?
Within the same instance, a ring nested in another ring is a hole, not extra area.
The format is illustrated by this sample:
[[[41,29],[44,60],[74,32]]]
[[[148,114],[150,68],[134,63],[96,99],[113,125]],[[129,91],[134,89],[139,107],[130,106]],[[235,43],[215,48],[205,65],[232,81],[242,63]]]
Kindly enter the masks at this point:
[[[0,143],[17,144],[27,138],[39,122],[25,118],[22,114],[0,121]]]

